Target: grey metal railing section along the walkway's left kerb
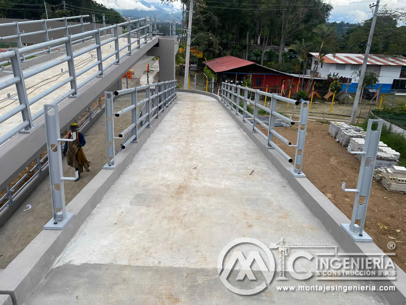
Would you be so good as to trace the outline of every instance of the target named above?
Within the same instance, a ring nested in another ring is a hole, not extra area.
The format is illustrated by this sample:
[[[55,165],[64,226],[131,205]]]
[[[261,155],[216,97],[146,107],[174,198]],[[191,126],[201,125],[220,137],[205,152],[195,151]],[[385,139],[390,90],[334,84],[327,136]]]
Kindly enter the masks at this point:
[[[122,89],[115,91],[114,93],[111,91],[105,92],[107,163],[103,167],[104,169],[114,169],[118,165],[114,162],[114,139],[123,140],[118,152],[121,149],[125,149],[131,142],[137,142],[142,131],[145,128],[150,128],[151,121],[155,118],[159,118],[159,114],[165,111],[165,107],[168,107],[176,99],[176,86],[176,80],[171,80]],[[141,90],[145,90],[146,97],[137,101],[137,93]],[[114,113],[114,98],[129,94],[131,95],[131,105]],[[141,108],[141,110],[137,113],[139,108]],[[131,112],[131,124],[121,131],[118,134],[118,137],[115,137],[114,116],[120,117],[127,112]]]

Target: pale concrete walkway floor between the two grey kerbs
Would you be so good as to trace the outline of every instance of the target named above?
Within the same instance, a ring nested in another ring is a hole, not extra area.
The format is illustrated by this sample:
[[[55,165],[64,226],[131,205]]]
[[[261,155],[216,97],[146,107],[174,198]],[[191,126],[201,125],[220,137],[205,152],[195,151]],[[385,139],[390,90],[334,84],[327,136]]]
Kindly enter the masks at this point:
[[[385,303],[373,292],[280,292],[318,283],[276,276],[234,294],[217,259],[240,237],[337,245],[216,100],[179,93],[26,304]]]

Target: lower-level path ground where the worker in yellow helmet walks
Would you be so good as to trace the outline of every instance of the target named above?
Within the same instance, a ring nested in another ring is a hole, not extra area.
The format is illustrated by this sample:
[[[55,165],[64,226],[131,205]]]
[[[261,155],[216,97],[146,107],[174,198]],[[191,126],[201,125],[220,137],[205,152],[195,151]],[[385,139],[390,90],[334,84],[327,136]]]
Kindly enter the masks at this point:
[[[150,81],[157,81],[159,77],[158,62],[153,62],[151,56],[145,56],[136,65],[134,76],[129,80],[129,86],[145,84],[147,63],[150,64]],[[126,80],[122,79],[123,88]],[[145,82],[145,83],[144,83]],[[142,99],[145,94],[139,94]],[[115,111],[130,105],[127,97],[119,98],[114,103]],[[116,134],[130,125],[130,115],[124,115],[115,119],[114,127]],[[87,185],[87,183],[99,172],[107,162],[106,153],[106,119],[102,115],[95,121],[93,126],[85,133],[86,145],[83,147],[87,159],[90,161],[90,172],[84,172],[77,182],[65,181],[65,202],[69,202]],[[116,140],[116,150],[120,147],[120,140]],[[74,176],[74,169],[63,162],[65,176]],[[27,168],[29,169],[29,168]],[[31,208],[27,209],[26,205]],[[4,269],[42,230],[44,225],[52,218],[51,194],[49,178],[46,178],[33,192],[30,197],[21,204],[14,215],[0,227],[0,269]]]

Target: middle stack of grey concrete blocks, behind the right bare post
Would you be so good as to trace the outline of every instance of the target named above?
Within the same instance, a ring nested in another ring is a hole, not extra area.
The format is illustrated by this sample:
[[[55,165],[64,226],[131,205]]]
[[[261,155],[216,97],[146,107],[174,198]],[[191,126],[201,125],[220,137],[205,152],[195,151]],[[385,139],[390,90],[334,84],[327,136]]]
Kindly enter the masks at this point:
[[[365,144],[365,139],[359,139],[359,138],[351,138],[348,146],[351,147],[351,151],[362,151],[363,147]],[[358,160],[361,160],[361,155],[354,155],[355,158]],[[392,165],[397,165],[397,162],[399,161],[400,154],[388,147],[384,142],[380,141],[379,142],[379,147],[378,147],[378,155],[377,155],[377,161],[375,162],[375,168],[378,167],[390,167]]]

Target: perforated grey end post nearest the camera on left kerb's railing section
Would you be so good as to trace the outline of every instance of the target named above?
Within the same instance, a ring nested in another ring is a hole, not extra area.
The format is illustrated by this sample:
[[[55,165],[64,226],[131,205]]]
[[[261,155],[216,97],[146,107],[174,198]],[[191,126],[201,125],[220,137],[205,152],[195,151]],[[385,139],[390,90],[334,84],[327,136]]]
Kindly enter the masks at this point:
[[[113,92],[105,92],[105,112],[106,112],[106,142],[107,142],[107,163],[104,169],[115,169],[117,163],[114,162],[114,118],[113,118]]]

